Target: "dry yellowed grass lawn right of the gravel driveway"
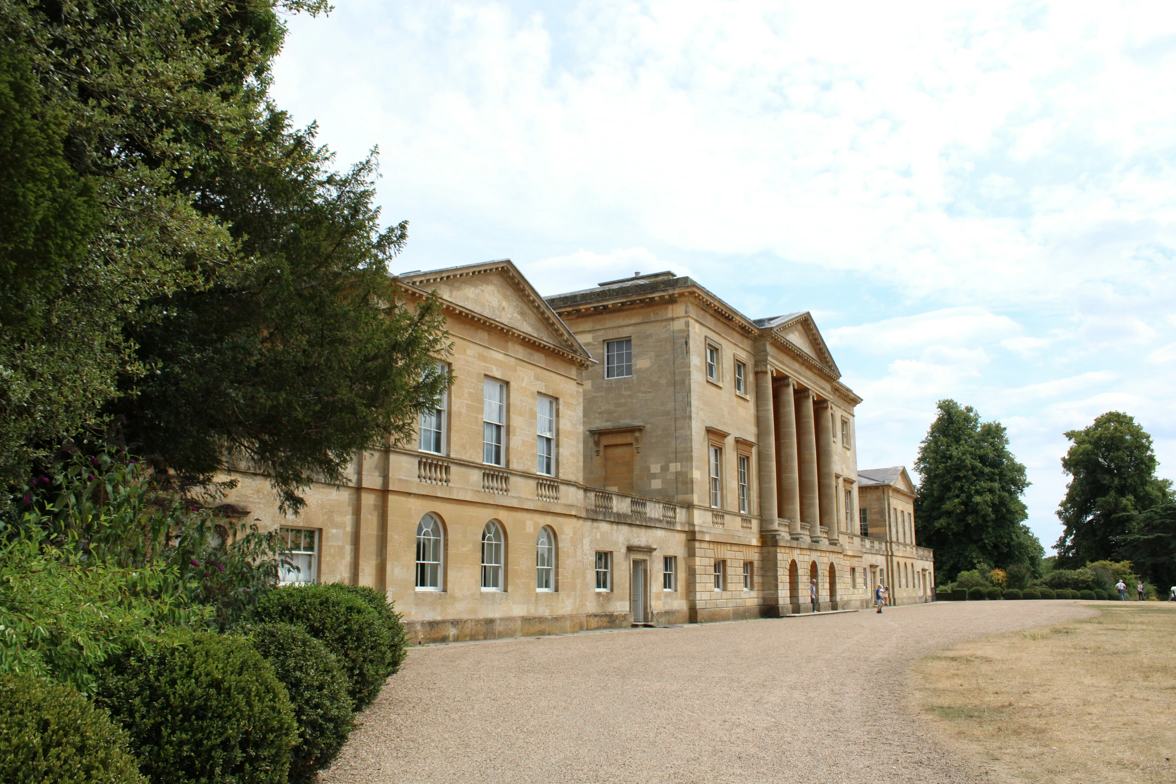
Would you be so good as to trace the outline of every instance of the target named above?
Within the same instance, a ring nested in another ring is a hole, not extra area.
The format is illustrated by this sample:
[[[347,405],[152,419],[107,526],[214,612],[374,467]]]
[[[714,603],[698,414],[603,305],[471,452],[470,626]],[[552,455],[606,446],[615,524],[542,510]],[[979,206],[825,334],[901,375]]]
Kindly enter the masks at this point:
[[[920,659],[911,699],[997,780],[1176,782],[1176,604],[1090,607]]]

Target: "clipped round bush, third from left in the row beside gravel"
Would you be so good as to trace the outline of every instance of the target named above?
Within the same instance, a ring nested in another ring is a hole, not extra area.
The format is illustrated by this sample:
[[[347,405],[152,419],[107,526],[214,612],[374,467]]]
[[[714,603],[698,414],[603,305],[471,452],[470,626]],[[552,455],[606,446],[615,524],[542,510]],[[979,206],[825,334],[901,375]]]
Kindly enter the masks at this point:
[[[347,676],[335,655],[298,626],[263,623],[249,629],[248,639],[289,695],[299,737],[289,777],[308,782],[339,756],[355,728]]]

